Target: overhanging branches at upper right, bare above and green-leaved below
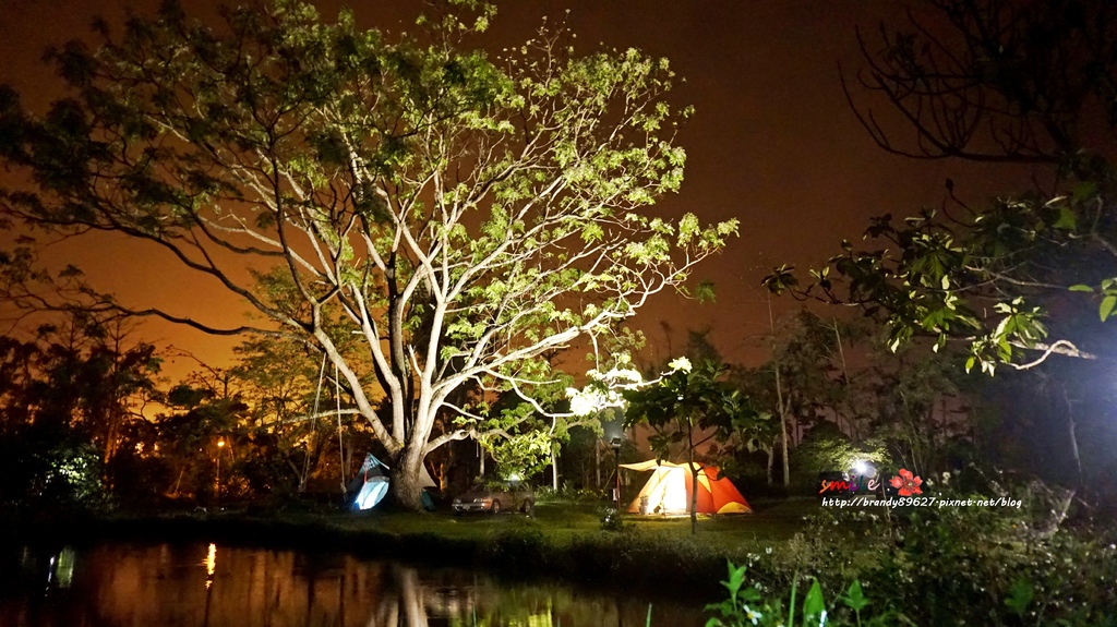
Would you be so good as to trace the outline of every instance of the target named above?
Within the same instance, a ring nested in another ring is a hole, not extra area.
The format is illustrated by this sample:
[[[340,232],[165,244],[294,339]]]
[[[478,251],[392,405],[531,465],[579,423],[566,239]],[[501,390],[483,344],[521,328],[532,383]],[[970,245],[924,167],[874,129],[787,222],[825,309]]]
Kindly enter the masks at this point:
[[[916,336],[964,343],[967,368],[1097,358],[1111,350],[1110,334],[1068,314],[1085,305],[1105,320],[1117,305],[1117,179],[1104,149],[1117,132],[1117,7],[926,6],[930,17],[913,17],[910,28],[861,39],[868,65],[855,85],[868,94],[848,88],[860,119],[891,152],[1022,164],[1042,184],[981,208],[947,181],[952,202],[942,210],[873,219],[866,239],[880,248],[847,241],[809,282],[784,267],[766,283],[862,305],[888,325],[894,348]],[[873,94],[899,114],[898,126],[869,108]],[[897,138],[910,133],[909,143]]]

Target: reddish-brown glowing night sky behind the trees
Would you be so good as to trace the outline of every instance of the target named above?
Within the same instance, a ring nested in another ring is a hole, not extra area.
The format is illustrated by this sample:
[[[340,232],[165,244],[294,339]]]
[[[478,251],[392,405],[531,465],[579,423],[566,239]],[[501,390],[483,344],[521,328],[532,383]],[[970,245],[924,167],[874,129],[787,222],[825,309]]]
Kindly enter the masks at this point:
[[[334,0],[314,3],[327,18],[342,6]],[[0,81],[13,85],[29,106],[41,110],[58,95],[59,85],[39,60],[48,45],[86,36],[95,15],[114,22],[125,7],[150,12],[156,4],[0,0]],[[218,6],[185,4],[203,17],[214,16]],[[419,10],[416,1],[351,6],[360,23],[389,28],[407,27]],[[581,51],[599,42],[637,47],[668,57],[685,79],[674,97],[697,109],[679,141],[688,153],[686,177],[681,193],[661,201],[659,210],[670,215],[693,211],[704,222],[737,216],[742,238],[696,274],[716,282],[715,305],[665,296],[641,310],[634,326],[658,345],[651,350],[659,356],[670,351],[665,324],[674,329],[675,353],[686,329],[712,326],[713,340],[731,360],[753,361],[760,354],[751,349],[757,343],[750,338],[767,325],[758,289],[767,268],[817,264],[838,251],[842,238],[859,239],[871,215],[938,205],[946,177],[974,202],[1021,189],[1024,173],[1006,166],[890,155],[858,124],[842,94],[839,64],[847,73],[860,68],[856,29],[871,40],[881,20],[904,23],[908,6],[896,0],[532,0],[500,7],[485,37],[494,51],[528,38],[544,16],[553,23],[570,9],[567,23]],[[862,96],[867,105],[875,104]],[[0,240],[7,239],[10,234],[0,234]],[[76,261],[95,284],[128,305],[160,303],[210,324],[239,324],[245,309],[219,286],[178,269],[150,244],[97,237],[50,251],[52,262]],[[784,298],[776,306],[787,311],[799,303]],[[227,361],[232,344],[155,321],[145,324],[143,334],[214,365]],[[171,366],[169,374],[190,367]]]

